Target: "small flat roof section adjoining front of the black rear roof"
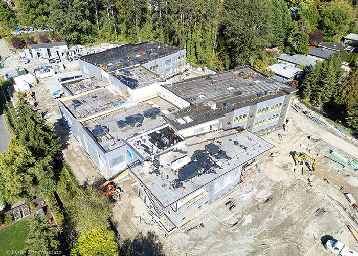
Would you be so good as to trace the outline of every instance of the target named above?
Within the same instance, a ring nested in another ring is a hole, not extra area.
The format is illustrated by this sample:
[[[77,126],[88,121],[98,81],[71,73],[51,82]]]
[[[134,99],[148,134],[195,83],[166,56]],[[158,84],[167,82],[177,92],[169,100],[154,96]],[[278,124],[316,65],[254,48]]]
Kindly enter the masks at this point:
[[[112,75],[132,89],[163,81],[158,75],[141,66],[129,68],[127,70],[130,72],[129,76],[125,75],[122,71],[116,71]]]

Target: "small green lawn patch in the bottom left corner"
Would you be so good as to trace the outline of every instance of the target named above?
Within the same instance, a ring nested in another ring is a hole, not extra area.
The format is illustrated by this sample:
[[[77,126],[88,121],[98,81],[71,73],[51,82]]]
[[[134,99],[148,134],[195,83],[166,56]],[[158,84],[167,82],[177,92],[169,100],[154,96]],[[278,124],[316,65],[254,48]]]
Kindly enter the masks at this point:
[[[25,239],[29,232],[27,220],[20,220],[17,223],[0,230],[0,255],[6,255],[7,250],[19,251],[25,249]]]

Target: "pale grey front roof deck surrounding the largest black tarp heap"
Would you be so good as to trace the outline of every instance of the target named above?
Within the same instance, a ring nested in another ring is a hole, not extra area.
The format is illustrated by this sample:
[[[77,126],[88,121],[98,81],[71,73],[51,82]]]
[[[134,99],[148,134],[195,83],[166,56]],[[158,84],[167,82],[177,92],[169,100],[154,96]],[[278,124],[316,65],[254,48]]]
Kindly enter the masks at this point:
[[[153,196],[164,207],[168,207],[171,204],[188,196],[192,192],[202,188],[205,184],[245,164],[245,162],[274,147],[272,144],[264,141],[264,139],[257,137],[248,131],[239,132],[238,136],[235,135],[235,132],[235,130],[221,130],[207,133],[203,136],[194,136],[192,138],[188,138],[186,141],[187,146],[182,148],[182,151],[188,151],[187,154],[170,151],[160,155],[160,165],[164,166],[161,170],[163,174],[162,176],[149,174],[151,169],[145,169],[142,166],[133,167],[131,170],[141,180],[144,186],[153,194]],[[250,140],[249,137],[252,138],[252,140]],[[233,142],[234,140],[246,146],[248,148],[249,154],[247,154],[247,152],[241,149],[239,146],[235,146]],[[222,142],[221,146],[217,144],[218,141]],[[183,191],[182,188],[169,189],[170,182],[178,178],[177,175],[175,175],[175,173],[170,169],[170,164],[174,160],[174,155],[177,157],[183,157],[185,155],[191,157],[195,150],[204,150],[205,144],[210,143],[214,143],[222,150],[226,151],[227,155],[232,158],[230,160],[230,165],[228,165],[227,160],[221,161],[212,158],[215,162],[218,161],[219,166],[222,164],[222,169],[216,168],[216,173],[202,174],[192,178],[191,181],[184,181],[183,187],[186,188],[186,191]],[[261,147],[258,145],[261,145]],[[255,150],[253,149],[254,147],[256,148]],[[166,178],[167,175],[169,176],[168,179]]]

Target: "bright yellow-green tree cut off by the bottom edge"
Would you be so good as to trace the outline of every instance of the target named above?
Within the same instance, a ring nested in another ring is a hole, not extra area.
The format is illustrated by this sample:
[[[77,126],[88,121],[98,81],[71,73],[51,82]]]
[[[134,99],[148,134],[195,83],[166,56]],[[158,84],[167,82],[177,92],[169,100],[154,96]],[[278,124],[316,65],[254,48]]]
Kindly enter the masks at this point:
[[[118,244],[113,231],[105,227],[92,229],[87,234],[80,235],[77,244],[71,250],[71,256],[115,256],[118,255]]]

